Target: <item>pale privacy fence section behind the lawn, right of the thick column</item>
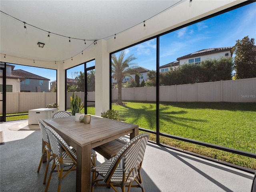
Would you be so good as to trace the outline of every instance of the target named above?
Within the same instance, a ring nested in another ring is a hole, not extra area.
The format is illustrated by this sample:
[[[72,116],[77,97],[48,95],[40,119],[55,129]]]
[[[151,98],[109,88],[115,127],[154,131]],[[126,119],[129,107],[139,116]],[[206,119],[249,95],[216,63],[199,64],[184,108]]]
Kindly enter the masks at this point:
[[[160,86],[166,102],[256,102],[256,78]],[[117,100],[118,89],[112,89]],[[156,87],[122,88],[122,100],[156,101]]]

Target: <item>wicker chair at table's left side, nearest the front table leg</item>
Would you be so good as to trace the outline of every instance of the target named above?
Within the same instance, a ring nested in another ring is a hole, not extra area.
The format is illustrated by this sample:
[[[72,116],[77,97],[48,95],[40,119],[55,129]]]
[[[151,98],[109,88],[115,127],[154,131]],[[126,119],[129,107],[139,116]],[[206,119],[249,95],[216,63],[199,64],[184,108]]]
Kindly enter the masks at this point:
[[[52,177],[53,172],[58,172],[58,192],[60,192],[60,187],[62,180],[67,176],[67,174],[70,171],[76,170],[76,150],[73,148],[70,148],[68,144],[61,138],[61,136],[54,131],[51,127],[46,126],[49,140],[50,140],[50,146],[52,149],[52,155],[53,155],[53,163],[52,163],[52,170],[48,177],[48,182],[46,185],[45,192],[47,192],[50,180]],[[91,162],[92,167],[95,166],[95,153],[91,153]],[[93,159],[93,160],[92,160]],[[94,164],[93,164],[94,163]],[[56,169],[57,167],[57,169]],[[66,167],[69,167],[67,169],[64,169]],[[65,174],[63,174],[66,172]]]

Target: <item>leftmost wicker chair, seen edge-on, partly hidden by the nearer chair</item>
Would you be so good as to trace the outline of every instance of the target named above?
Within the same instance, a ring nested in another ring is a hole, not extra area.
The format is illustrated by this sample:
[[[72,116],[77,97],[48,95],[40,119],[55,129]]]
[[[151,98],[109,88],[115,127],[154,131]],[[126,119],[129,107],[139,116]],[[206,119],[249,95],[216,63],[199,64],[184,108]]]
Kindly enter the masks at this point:
[[[45,184],[49,163],[52,160],[52,150],[51,150],[51,146],[50,146],[50,140],[49,140],[49,137],[48,137],[47,129],[45,127],[46,124],[41,119],[38,119],[38,124],[39,124],[40,130],[42,132],[42,139],[43,139],[44,148],[43,148],[43,151],[42,151],[42,156],[41,156],[41,160],[40,160],[37,172],[40,171],[44,155],[46,154],[46,169],[45,169],[45,173],[44,173],[44,182],[43,182]]]

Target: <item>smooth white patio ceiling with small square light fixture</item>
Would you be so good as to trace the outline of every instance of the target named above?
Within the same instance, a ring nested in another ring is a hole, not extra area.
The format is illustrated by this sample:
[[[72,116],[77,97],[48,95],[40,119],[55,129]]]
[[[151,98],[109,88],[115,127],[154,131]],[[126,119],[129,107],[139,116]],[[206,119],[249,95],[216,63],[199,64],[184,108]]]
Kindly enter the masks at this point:
[[[177,2],[180,0],[1,0],[0,52],[34,60],[66,60],[90,44],[94,46],[93,40],[107,40],[114,34],[118,38],[118,33],[132,26],[143,26],[144,20]],[[52,33],[71,37],[71,42]],[[72,38],[86,39],[86,45]],[[44,48],[37,42],[44,43]]]

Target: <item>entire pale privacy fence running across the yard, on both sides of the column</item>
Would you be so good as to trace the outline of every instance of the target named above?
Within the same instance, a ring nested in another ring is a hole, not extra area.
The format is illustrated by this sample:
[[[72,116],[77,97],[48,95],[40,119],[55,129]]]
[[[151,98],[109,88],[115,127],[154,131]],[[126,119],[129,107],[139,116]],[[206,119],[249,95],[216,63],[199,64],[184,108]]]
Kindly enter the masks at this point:
[[[166,102],[256,102],[256,78],[160,86],[159,92],[160,101]],[[72,94],[67,93],[68,109]],[[84,102],[84,92],[74,94]],[[88,92],[87,100],[95,101],[94,98],[95,92]],[[112,89],[112,100],[117,98],[118,90]],[[122,100],[156,101],[156,87],[123,88]],[[28,112],[56,102],[56,93],[52,92],[7,92],[6,113]]]

